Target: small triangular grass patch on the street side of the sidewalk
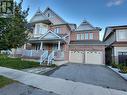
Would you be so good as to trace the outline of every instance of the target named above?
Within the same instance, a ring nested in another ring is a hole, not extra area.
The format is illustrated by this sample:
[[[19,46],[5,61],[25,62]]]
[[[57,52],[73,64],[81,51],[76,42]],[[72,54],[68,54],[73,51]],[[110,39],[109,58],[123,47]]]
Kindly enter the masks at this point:
[[[4,87],[6,85],[9,85],[11,83],[14,83],[14,82],[16,82],[16,81],[8,79],[8,78],[3,77],[3,76],[0,76],[0,88]]]

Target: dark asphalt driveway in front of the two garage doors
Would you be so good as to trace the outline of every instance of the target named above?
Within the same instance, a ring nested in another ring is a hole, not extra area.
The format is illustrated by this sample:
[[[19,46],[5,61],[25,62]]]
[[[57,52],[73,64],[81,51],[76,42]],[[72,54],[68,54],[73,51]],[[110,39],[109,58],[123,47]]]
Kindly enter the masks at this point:
[[[50,76],[127,91],[127,81],[106,66],[67,64]]]

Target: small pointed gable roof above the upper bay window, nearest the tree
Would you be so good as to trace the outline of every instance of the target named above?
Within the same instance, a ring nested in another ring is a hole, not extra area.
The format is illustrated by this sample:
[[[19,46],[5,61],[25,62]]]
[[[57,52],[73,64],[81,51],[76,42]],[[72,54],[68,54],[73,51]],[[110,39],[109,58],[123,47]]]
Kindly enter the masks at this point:
[[[31,18],[30,23],[44,21],[44,20],[48,20],[48,18],[44,15],[44,13],[40,9],[38,9],[35,15]]]

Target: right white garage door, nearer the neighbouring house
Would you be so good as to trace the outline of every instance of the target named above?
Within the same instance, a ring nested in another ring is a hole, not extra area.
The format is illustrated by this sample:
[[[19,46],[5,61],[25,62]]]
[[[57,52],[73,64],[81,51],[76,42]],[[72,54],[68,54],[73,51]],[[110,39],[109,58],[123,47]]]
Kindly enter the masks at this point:
[[[103,64],[103,54],[101,51],[86,51],[85,52],[86,64]]]

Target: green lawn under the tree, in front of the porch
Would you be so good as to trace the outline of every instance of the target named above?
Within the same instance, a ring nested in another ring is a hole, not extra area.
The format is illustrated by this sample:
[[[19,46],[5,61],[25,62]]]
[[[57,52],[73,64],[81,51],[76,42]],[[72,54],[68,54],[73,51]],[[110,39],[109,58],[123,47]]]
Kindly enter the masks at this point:
[[[27,69],[32,67],[39,67],[39,63],[23,61],[20,58],[9,58],[6,55],[0,54],[0,66],[12,69]]]

